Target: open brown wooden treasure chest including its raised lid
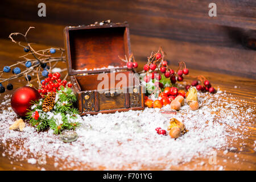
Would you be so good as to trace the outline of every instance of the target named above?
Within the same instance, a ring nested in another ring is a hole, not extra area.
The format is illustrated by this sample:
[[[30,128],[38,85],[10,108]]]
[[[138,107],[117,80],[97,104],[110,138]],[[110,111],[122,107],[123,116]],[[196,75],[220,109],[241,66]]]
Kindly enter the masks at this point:
[[[127,23],[65,27],[68,73],[81,115],[144,109],[144,94],[129,57]]]

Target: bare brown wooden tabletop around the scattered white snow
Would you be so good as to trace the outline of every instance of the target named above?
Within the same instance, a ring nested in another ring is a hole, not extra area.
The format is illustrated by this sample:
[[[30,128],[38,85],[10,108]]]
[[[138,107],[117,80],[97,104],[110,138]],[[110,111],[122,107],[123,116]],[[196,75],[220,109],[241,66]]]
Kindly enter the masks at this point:
[[[48,48],[49,46],[45,45],[37,45],[36,49]],[[0,69],[2,69],[5,65],[10,65],[15,63],[18,60],[18,57],[23,55],[23,50],[16,46],[14,43],[10,43],[10,40],[0,39]],[[255,64],[251,65],[255,68]],[[59,64],[57,67],[64,68],[65,64]],[[190,69],[189,75],[204,75],[207,77],[213,86],[219,87],[221,90],[226,90],[227,93],[231,95],[228,96],[228,99],[236,100],[237,102],[246,103],[250,106],[256,106],[256,80],[244,77],[237,76],[229,76],[223,75],[220,73],[212,73],[212,72],[204,72],[200,70]],[[15,81],[11,81],[15,82]],[[19,86],[24,86],[26,84],[25,81],[15,82],[14,90]],[[237,86],[238,89],[234,89],[234,86]],[[12,94],[12,91],[7,90],[6,94]],[[0,101],[2,102],[3,96],[5,94],[1,94]],[[231,98],[232,97],[232,98]],[[6,109],[6,108],[2,108]],[[246,106],[245,108],[246,109]],[[217,152],[217,164],[218,165],[210,165],[208,163],[208,158],[200,158],[192,160],[192,162],[180,165],[173,166],[172,169],[177,170],[216,170],[218,166],[223,164],[226,170],[256,170],[256,155],[255,155],[255,144],[256,140],[256,124],[255,124],[255,114],[256,111],[253,111],[253,121],[244,123],[245,127],[247,127],[248,131],[246,133],[247,139],[237,140],[236,143],[233,143],[233,146],[236,147],[236,150],[229,151],[228,154],[224,155],[224,151]],[[241,132],[240,130],[234,130],[233,132]],[[241,142],[245,143],[245,145],[241,146]],[[2,154],[4,150],[4,146],[0,146],[0,154]],[[236,156],[236,157],[235,157]],[[47,170],[55,170],[57,168],[54,167],[54,159],[47,158],[47,164],[29,164],[26,161],[16,162],[16,160],[10,160],[9,155],[6,156],[0,155],[0,169],[1,170],[13,170],[14,167],[16,170],[40,170],[40,168],[45,168]],[[224,159],[226,162],[224,163]],[[11,164],[11,161],[13,164]],[[204,162],[204,165],[200,165],[201,162]],[[61,164],[61,162],[59,162]],[[72,169],[72,168],[69,168]],[[81,167],[83,169],[83,167]],[[87,169],[84,166],[84,169]],[[101,168],[98,168],[101,169]],[[152,166],[150,168],[143,169],[152,169],[158,170],[160,167]]]

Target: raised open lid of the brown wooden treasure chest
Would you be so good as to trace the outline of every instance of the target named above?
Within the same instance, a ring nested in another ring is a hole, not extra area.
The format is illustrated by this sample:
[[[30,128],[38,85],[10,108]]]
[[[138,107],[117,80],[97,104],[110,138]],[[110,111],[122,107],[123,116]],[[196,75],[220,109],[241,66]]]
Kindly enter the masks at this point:
[[[130,55],[128,23],[65,27],[64,38],[69,75],[127,69],[119,57]]]

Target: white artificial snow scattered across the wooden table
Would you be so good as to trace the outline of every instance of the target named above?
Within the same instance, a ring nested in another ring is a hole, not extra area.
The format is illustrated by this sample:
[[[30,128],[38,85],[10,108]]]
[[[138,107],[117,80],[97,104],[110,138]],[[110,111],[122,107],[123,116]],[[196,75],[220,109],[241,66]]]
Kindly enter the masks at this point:
[[[228,101],[226,96],[227,93],[220,90],[216,94],[199,93],[200,109],[192,111],[188,105],[181,107],[173,117],[184,122],[188,132],[176,140],[156,133],[156,127],[167,130],[170,121],[160,113],[160,109],[146,108],[143,111],[79,118],[82,123],[76,130],[79,138],[75,142],[64,143],[52,130],[38,133],[28,124],[23,132],[9,130],[16,115],[8,107],[0,114],[2,156],[28,159],[28,163],[36,164],[42,155],[46,155],[54,159],[57,169],[80,169],[81,164],[86,164],[88,168],[95,169],[134,170],[147,166],[171,169],[170,166],[208,158],[213,151],[220,149],[226,155],[228,151],[237,150],[233,142],[246,138],[243,135],[247,131],[242,127],[244,123],[255,119],[255,107],[243,103],[247,108],[243,110],[241,103]],[[5,97],[6,101],[1,105],[10,105],[9,97]],[[168,106],[163,109],[168,109]],[[233,131],[237,128],[242,132]],[[201,166],[204,164],[200,163]],[[224,170],[225,166],[218,169]]]

